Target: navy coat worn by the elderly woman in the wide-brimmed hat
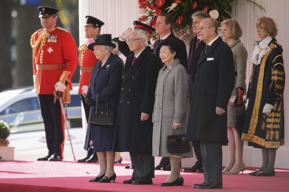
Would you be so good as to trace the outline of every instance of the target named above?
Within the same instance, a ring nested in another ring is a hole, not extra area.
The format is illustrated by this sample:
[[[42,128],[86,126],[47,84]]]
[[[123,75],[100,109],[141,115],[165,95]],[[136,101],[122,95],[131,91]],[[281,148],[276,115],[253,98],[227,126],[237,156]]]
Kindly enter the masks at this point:
[[[110,54],[104,66],[101,67],[101,61],[98,61],[93,67],[89,80],[90,87],[88,88],[86,95],[96,99],[96,95],[100,93],[98,109],[106,109],[107,101],[108,110],[113,110],[114,127],[88,125],[84,143],[85,150],[92,148],[89,145],[90,138],[92,139],[92,146],[95,152],[112,150],[122,72],[123,67],[113,53]]]

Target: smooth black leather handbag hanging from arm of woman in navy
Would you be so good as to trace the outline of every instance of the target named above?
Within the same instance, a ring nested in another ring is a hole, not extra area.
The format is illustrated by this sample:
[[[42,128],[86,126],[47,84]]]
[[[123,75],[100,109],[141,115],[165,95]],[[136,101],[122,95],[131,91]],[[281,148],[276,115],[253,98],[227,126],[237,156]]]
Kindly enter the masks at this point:
[[[91,109],[89,125],[97,125],[104,127],[113,127],[113,111],[108,110],[106,101],[106,110],[98,109],[98,99],[100,93],[96,95],[96,106]]]

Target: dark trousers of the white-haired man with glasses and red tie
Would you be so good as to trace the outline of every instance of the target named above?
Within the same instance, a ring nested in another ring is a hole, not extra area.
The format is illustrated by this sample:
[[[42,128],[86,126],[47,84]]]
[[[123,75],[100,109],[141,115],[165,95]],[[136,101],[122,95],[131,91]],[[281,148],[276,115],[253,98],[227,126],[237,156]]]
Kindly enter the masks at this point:
[[[154,157],[152,153],[129,152],[132,161],[132,178],[154,178]]]

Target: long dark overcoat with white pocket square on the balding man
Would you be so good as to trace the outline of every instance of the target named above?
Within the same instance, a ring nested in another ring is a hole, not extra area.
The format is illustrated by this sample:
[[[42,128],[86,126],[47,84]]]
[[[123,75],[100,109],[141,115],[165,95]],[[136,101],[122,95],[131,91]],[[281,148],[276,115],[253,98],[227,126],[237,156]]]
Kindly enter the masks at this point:
[[[191,141],[228,142],[227,112],[216,114],[216,107],[227,111],[235,85],[231,48],[219,37],[197,65],[186,139]]]

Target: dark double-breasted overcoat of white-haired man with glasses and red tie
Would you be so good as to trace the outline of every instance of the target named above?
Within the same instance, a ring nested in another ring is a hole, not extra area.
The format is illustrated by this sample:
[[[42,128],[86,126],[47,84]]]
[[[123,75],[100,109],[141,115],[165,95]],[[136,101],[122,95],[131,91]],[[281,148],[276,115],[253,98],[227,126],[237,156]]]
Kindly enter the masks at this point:
[[[152,152],[154,92],[160,60],[144,49],[132,65],[134,55],[126,59],[122,76],[119,115],[115,128],[113,151]],[[149,119],[141,121],[141,113]]]

